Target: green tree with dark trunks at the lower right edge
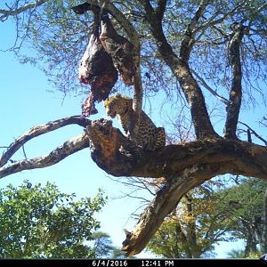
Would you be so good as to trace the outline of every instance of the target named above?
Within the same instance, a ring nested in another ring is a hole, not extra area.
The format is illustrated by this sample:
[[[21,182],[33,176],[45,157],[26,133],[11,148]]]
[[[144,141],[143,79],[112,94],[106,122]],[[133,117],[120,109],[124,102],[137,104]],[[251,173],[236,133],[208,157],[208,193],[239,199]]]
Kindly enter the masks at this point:
[[[245,239],[244,257],[264,254],[264,201],[266,182],[242,179],[231,188],[218,192],[229,214],[225,226],[234,239]]]

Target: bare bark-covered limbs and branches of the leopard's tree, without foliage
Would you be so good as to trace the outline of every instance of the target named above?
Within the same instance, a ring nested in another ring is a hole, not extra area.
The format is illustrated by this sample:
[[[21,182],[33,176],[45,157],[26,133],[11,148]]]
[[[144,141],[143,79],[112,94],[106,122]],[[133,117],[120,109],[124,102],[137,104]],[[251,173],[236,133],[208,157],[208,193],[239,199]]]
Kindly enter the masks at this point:
[[[38,1],[38,4],[43,4],[44,2],[46,1]],[[103,1],[88,0],[86,2],[99,7],[99,4]],[[69,120],[63,119],[63,121],[53,122],[41,128],[31,129],[13,142],[0,158],[0,177],[4,177],[26,169],[51,166],[72,153],[87,148],[88,143],[90,143],[93,161],[108,174],[117,177],[165,177],[166,184],[164,187],[158,190],[156,197],[143,211],[134,231],[127,233],[123,243],[123,249],[127,255],[141,252],[158,230],[166,215],[177,206],[182,196],[206,180],[219,174],[242,174],[267,180],[267,148],[232,138],[236,136],[241,102],[239,44],[243,31],[237,29],[231,39],[232,88],[230,100],[226,101],[229,104],[229,109],[225,127],[225,137],[231,138],[223,139],[214,131],[207,113],[203,93],[192,75],[189,64],[190,53],[196,41],[196,34],[207,25],[205,25],[205,22],[202,25],[199,24],[202,19],[205,20],[204,13],[209,1],[200,1],[198,9],[192,14],[185,31],[181,33],[183,38],[178,54],[174,53],[174,49],[167,42],[162,26],[167,1],[158,0],[157,3],[154,1],[153,4],[150,4],[152,1],[149,0],[139,0],[138,2],[144,8],[144,18],[150,24],[150,32],[156,40],[160,56],[179,81],[189,103],[192,122],[198,140],[185,144],[172,144],[163,149],[150,152],[135,147],[118,129],[112,127],[112,123],[108,120],[100,119],[91,123],[85,118],[71,117]],[[32,4],[25,4],[17,10],[0,10],[0,20],[6,20],[8,16],[19,14],[32,7]],[[125,18],[125,15],[114,4],[105,1],[102,7],[104,7],[103,10],[107,10],[116,18],[120,26],[125,29],[129,41],[134,45],[133,109],[137,113],[136,120],[138,121],[138,114],[142,110],[139,35],[131,22]],[[225,14],[224,18],[226,17],[227,15]],[[208,20],[206,20],[207,22]],[[20,149],[25,142],[70,123],[86,126],[86,133],[65,142],[49,155],[13,162],[11,165],[6,166],[15,151]],[[266,239],[265,244],[267,243]]]

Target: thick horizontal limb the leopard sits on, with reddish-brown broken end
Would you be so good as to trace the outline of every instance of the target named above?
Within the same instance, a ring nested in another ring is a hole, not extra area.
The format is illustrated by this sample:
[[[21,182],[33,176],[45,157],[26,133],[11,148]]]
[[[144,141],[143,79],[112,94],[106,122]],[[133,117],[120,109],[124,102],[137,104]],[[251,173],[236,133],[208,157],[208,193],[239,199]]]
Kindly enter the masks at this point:
[[[114,176],[173,177],[193,165],[215,164],[228,174],[267,180],[267,148],[254,143],[206,138],[150,152],[134,148],[110,121],[93,121],[87,129],[93,161]]]

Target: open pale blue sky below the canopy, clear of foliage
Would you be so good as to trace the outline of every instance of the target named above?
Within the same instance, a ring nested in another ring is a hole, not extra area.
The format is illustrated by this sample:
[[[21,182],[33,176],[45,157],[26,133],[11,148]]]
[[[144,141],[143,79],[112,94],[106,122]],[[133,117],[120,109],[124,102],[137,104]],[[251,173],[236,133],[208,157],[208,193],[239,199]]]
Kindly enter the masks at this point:
[[[1,50],[12,46],[14,40],[12,23],[5,21],[1,24],[0,36],[2,36]],[[48,92],[54,88],[47,82],[43,72],[30,65],[21,65],[13,53],[5,52],[0,55],[0,146],[9,145],[14,138],[34,125],[81,113],[80,105],[83,97],[67,96],[63,101],[61,93]],[[101,104],[98,104],[97,109],[100,111],[99,114],[92,118],[106,117]],[[249,111],[250,113],[243,113],[242,117],[253,121],[255,113]],[[260,112],[266,113],[266,109]],[[248,114],[252,115],[248,117]],[[26,154],[28,158],[42,156],[82,132],[80,126],[69,125],[50,134],[44,134],[26,144]],[[18,151],[14,158],[23,158],[21,151]],[[125,191],[125,187],[111,181],[108,174],[93,163],[89,150],[80,151],[55,166],[7,176],[0,180],[0,187],[9,183],[20,185],[25,179],[32,183],[55,182],[60,190],[75,192],[78,197],[93,197],[99,188],[103,189],[109,196],[109,202],[97,217],[101,221],[101,231],[109,233],[117,247],[120,247],[125,239],[123,229],[132,230],[134,227],[135,222],[129,220],[129,216],[139,206],[138,200],[118,198],[122,195],[121,192]],[[240,247],[241,244],[223,242],[216,248],[217,256],[225,257],[227,251],[237,246]]]

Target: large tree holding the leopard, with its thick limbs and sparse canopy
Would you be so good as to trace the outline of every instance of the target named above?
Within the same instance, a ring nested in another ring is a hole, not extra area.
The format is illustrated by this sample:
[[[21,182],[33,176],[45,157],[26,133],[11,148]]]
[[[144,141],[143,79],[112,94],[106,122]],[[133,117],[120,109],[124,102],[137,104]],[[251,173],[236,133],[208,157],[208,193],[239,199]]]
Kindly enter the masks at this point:
[[[190,189],[220,174],[267,179],[266,139],[246,122],[239,123],[241,105],[250,107],[259,96],[263,100],[266,97],[262,88],[266,73],[267,6],[262,0],[86,2],[109,12],[117,31],[133,44],[134,131],[138,131],[142,109],[142,82],[150,77],[147,96],[160,90],[169,101],[177,97],[182,105],[177,105],[177,101],[173,105],[178,114],[190,111],[195,140],[167,145],[151,157],[151,152],[136,148],[110,121],[68,117],[31,129],[13,142],[0,160],[0,177],[56,164],[87,148],[88,140],[93,161],[108,174],[165,177],[165,185],[125,239],[123,249],[134,255],[148,244],[166,215]],[[48,63],[49,74],[69,88],[71,77],[76,76],[69,66],[72,62],[77,64],[83,53],[82,40],[88,28],[85,17],[71,13],[72,4],[77,3],[44,0],[28,4],[16,0],[0,10],[1,20],[15,19],[17,27],[22,28],[22,32],[18,31],[19,40],[31,42],[37,55]],[[24,20],[20,20],[21,16],[25,16]],[[36,59],[26,60],[36,63]],[[158,69],[162,71],[159,73]],[[64,92],[68,91],[66,86],[61,86]],[[208,108],[214,105],[225,118],[225,124],[217,128]],[[264,122],[263,118],[262,125]],[[65,142],[47,156],[7,164],[29,139],[69,124],[85,127],[85,134]],[[241,130],[246,131],[245,137]],[[257,144],[258,140],[265,146]]]

